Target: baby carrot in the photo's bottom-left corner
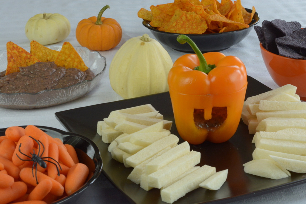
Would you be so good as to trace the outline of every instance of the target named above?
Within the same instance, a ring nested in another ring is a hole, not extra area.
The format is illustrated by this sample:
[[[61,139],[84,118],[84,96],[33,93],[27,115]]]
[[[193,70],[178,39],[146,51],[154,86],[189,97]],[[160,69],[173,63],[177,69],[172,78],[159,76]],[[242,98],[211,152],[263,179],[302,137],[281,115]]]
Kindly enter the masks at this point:
[[[27,192],[27,184],[16,181],[11,187],[0,188],[0,204],[12,202],[24,196]]]

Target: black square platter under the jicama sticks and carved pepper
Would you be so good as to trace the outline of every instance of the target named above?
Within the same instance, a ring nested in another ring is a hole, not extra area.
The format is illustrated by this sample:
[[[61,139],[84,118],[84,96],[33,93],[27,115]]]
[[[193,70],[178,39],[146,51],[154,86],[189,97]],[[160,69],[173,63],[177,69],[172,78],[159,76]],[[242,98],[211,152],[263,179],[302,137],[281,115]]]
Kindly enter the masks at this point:
[[[248,76],[246,98],[269,90],[271,90],[269,87]],[[129,201],[132,203],[164,204],[159,189],[145,191],[140,188],[140,185],[127,179],[132,168],[125,168],[122,163],[112,159],[111,154],[107,151],[108,144],[103,143],[101,136],[96,133],[97,122],[108,117],[110,111],[143,104],[151,104],[164,116],[165,120],[174,121],[169,92],[65,110],[57,112],[55,115],[68,131],[86,135],[98,145],[103,159],[103,174],[127,196]],[[172,125],[171,133],[179,136],[175,122]],[[252,138],[253,135],[249,134],[248,126],[241,121],[237,132],[225,143],[204,142],[200,145],[191,145],[191,150],[201,152],[200,166],[211,165],[216,167],[217,171],[229,169],[228,177],[218,191],[198,188],[174,203],[228,203],[306,182],[306,174],[292,173],[288,178],[272,180],[245,173],[242,164],[252,160],[252,152],[255,149]],[[179,143],[181,142],[183,142],[182,139]],[[102,183],[104,175],[99,176],[99,183]],[[100,185],[95,188],[97,191],[102,191],[104,187]],[[112,197],[119,199],[120,195],[117,191],[112,194]],[[91,198],[90,191],[85,191],[83,197]],[[95,203],[116,202],[114,200],[107,201],[104,198],[105,195],[97,195],[92,199]]]

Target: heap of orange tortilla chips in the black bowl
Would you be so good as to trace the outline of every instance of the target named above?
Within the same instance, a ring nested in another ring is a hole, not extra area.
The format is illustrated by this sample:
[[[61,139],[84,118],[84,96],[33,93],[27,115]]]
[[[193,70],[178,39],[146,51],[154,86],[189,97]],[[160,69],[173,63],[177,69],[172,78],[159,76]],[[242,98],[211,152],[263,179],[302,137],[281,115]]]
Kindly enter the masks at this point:
[[[255,13],[254,6],[252,12],[248,13],[242,7],[241,0],[174,0],[173,3],[152,5],[150,9],[152,27],[159,31],[181,34],[202,34],[201,31],[216,33],[247,28],[245,24],[252,21]],[[219,16],[215,16],[216,14]],[[211,16],[217,20],[209,19]]]

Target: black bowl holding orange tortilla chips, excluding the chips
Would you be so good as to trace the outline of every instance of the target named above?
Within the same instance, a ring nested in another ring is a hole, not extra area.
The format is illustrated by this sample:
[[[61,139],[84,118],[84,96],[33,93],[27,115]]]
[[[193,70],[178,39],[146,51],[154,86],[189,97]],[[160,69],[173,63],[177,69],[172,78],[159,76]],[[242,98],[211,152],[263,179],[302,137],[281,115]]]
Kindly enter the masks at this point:
[[[246,9],[248,12],[252,12],[252,9]],[[212,34],[187,34],[196,45],[199,47],[202,53],[204,52],[218,52],[226,50],[233,45],[236,45],[243,40],[251,31],[251,29],[259,23],[259,15],[255,12],[249,28],[240,29],[237,31],[223,32],[223,33],[212,33]],[[150,29],[154,37],[162,44],[178,50],[181,52],[194,53],[188,43],[180,44],[176,38],[178,33],[163,32],[151,27],[149,21],[143,20],[142,24],[144,27]]]

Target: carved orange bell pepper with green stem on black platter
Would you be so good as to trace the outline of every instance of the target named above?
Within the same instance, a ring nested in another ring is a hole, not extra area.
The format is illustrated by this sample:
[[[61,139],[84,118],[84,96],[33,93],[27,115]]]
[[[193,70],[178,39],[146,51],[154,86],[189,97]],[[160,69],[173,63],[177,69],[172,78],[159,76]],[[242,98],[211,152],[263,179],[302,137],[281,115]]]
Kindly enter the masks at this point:
[[[168,74],[177,131],[191,144],[225,142],[240,122],[248,84],[245,66],[235,56],[202,54],[186,35],[177,41],[189,43],[196,53],[179,57]]]

